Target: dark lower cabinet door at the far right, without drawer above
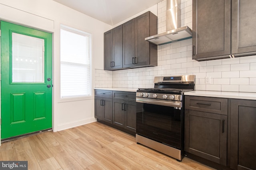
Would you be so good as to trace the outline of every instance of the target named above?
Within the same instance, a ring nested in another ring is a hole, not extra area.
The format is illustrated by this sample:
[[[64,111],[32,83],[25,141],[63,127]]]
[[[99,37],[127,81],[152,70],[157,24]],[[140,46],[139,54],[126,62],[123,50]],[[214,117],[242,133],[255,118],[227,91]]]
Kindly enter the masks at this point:
[[[230,168],[256,170],[256,101],[231,100]]]

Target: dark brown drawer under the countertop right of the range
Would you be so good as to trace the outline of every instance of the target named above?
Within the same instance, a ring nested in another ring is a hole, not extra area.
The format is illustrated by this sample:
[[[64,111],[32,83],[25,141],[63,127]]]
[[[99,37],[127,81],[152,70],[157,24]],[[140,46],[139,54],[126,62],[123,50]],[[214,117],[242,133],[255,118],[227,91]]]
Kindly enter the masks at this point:
[[[227,115],[228,99],[185,96],[185,109]]]

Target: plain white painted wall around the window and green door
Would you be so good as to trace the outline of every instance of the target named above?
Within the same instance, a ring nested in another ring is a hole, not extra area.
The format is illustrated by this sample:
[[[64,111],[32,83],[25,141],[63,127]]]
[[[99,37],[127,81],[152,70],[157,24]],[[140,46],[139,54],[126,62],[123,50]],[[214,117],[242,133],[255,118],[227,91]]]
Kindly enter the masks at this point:
[[[0,19],[53,33],[53,130],[60,131],[96,121],[94,96],[60,99],[60,24],[92,34],[92,87],[94,69],[103,68],[103,33],[112,26],[52,0],[0,0]]]

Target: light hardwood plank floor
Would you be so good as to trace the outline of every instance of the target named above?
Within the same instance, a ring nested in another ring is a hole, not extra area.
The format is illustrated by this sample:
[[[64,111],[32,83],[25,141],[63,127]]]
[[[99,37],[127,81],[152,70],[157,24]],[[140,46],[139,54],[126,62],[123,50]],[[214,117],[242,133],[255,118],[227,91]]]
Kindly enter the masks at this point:
[[[31,170],[212,170],[186,157],[178,162],[99,122],[2,143],[0,160],[28,160]]]

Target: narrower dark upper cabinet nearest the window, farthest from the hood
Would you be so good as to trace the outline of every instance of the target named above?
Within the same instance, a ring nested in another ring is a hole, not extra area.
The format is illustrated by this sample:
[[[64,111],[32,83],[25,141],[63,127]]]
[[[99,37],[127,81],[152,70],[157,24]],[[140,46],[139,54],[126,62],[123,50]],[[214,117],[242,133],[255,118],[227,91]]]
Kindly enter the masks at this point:
[[[122,25],[104,33],[104,70],[118,70],[122,66]]]

